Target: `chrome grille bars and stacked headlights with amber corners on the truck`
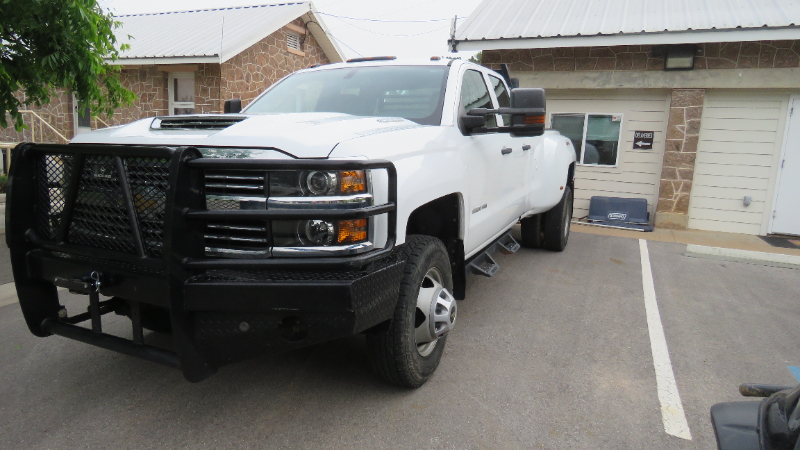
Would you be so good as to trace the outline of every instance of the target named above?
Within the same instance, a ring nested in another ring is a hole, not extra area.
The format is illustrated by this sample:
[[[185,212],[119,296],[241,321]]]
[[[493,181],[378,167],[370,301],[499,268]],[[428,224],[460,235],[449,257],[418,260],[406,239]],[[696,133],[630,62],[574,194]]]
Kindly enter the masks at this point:
[[[365,170],[207,171],[209,210],[350,210],[373,204]],[[273,256],[356,254],[372,249],[372,218],[208,224],[206,251]],[[258,226],[255,226],[258,225]]]

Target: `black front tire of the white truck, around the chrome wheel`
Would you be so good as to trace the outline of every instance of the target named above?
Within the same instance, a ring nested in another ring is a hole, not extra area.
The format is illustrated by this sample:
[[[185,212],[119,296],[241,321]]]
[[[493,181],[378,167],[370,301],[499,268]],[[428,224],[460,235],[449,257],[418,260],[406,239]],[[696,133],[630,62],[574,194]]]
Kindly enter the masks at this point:
[[[417,296],[425,275],[433,268],[440,272],[441,284],[450,292],[453,275],[447,250],[435,237],[408,236],[401,255],[406,263],[394,317],[388,330],[367,335],[367,348],[372,369],[381,378],[398,386],[417,388],[439,366],[447,341],[447,336],[441,337],[426,356],[420,354],[414,337]]]

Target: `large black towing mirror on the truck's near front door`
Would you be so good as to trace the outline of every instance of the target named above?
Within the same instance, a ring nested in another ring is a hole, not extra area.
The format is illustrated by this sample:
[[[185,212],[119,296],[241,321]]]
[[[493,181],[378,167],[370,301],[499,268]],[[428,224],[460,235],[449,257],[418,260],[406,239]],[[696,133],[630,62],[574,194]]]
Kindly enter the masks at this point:
[[[508,133],[514,136],[541,136],[544,134],[546,114],[544,89],[517,88],[511,90],[510,108],[475,108],[468,116],[486,117],[489,114],[510,114],[511,123],[504,127],[484,128],[485,133]]]

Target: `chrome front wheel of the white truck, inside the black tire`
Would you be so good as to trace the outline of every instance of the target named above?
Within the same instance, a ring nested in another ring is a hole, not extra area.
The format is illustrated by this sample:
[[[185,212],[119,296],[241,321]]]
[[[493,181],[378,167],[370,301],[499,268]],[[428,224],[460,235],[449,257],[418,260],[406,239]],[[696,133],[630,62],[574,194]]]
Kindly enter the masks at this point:
[[[431,267],[422,279],[417,295],[414,341],[420,356],[430,355],[439,338],[453,329],[456,313],[456,301],[443,286],[442,272]]]

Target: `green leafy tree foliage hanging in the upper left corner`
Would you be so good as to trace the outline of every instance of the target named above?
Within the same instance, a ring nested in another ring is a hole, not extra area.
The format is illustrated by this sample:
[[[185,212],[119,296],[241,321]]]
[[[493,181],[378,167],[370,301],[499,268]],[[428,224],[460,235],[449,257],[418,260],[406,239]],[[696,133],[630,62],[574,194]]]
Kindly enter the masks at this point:
[[[6,115],[22,129],[25,103],[50,102],[56,89],[74,92],[92,114],[110,114],[136,99],[110,65],[127,44],[116,47],[120,26],[97,0],[0,0],[0,127]]]

